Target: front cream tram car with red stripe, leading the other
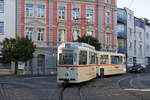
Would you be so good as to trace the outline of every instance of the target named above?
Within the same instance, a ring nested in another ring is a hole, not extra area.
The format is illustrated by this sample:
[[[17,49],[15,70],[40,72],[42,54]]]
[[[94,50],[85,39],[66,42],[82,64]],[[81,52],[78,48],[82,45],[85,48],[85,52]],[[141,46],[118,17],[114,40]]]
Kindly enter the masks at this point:
[[[80,83],[97,75],[95,48],[88,44],[61,44],[57,61],[57,82]]]

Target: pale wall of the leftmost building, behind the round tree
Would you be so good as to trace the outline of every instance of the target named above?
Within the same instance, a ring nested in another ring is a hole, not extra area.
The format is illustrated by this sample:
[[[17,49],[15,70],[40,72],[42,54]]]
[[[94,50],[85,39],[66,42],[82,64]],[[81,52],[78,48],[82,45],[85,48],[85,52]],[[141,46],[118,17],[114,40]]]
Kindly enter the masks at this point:
[[[0,43],[5,38],[16,37],[16,0],[4,0],[3,11],[0,11],[0,22],[3,24],[3,32],[0,33]],[[0,45],[0,50],[2,45]],[[0,51],[1,54],[1,51]],[[0,56],[0,75],[14,74],[13,64],[2,63],[2,56]]]

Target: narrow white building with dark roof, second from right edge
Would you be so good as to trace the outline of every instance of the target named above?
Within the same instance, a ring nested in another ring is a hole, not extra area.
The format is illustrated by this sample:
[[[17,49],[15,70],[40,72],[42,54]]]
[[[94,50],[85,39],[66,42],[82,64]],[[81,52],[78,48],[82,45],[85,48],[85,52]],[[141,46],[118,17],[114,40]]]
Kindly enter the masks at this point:
[[[135,34],[134,34],[134,64],[145,65],[145,22],[142,19],[134,18],[135,21]]]

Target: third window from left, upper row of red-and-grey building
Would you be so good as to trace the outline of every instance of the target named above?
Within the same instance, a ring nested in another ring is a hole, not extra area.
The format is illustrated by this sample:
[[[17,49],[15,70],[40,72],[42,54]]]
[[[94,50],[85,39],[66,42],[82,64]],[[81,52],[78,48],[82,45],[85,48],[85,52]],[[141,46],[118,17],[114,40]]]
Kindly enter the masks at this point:
[[[58,7],[58,19],[65,20],[66,17],[66,8],[64,6]]]

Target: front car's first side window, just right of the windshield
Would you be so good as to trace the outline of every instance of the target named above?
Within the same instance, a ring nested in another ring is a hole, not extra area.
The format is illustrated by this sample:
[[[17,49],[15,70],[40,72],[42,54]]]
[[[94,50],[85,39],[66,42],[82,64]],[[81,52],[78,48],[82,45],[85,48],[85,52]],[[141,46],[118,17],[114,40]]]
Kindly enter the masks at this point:
[[[87,64],[87,51],[80,51],[79,54],[79,64]]]

